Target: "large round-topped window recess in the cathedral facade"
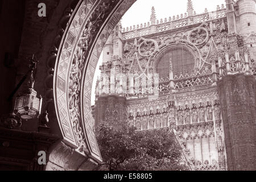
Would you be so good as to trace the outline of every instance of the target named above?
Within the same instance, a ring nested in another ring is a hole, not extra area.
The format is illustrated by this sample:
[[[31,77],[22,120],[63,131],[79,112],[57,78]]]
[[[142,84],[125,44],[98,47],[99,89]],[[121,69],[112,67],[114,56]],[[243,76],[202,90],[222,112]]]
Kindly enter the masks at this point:
[[[185,47],[172,47],[162,53],[156,65],[156,72],[159,74],[159,78],[169,78],[170,59],[172,60],[174,75],[193,71],[195,58],[192,53]]]

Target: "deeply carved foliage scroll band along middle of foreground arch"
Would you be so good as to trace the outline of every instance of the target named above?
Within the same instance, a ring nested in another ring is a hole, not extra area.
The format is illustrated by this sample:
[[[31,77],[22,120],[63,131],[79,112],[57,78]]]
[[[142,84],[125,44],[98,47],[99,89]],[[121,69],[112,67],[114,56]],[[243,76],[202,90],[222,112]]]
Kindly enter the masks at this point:
[[[86,51],[88,51],[88,47],[92,44],[93,38],[96,35],[97,30],[100,28],[101,24],[104,22],[104,18],[106,15],[106,11],[115,4],[114,2],[102,2],[100,5],[94,10],[94,14],[91,15],[90,20],[88,20],[85,25],[84,30],[82,31],[82,36],[80,39],[80,43],[76,48],[76,54],[73,58],[72,68],[69,75],[69,112],[71,121],[73,121],[73,131],[75,133],[75,137],[77,138],[77,143],[79,144],[78,151],[84,152],[86,151],[85,144],[85,135],[82,130],[81,123],[81,79],[82,79],[82,69],[84,69],[84,61]],[[90,118],[91,119],[91,118]],[[94,139],[96,142],[96,139]],[[97,151],[99,152],[99,151]]]

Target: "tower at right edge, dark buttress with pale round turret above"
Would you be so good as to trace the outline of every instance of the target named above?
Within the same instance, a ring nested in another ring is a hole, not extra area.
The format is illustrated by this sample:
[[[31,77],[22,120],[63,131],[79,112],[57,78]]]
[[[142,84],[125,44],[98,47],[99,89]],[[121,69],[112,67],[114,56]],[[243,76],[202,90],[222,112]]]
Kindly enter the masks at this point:
[[[236,3],[226,0],[226,16],[231,34],[230,47],[225,51],[227,73],[217,82],[224,122],[226,163],[231,171],[254,171],[256,85],[255,76],[249,68],[249,51],[246,51],[242,36],[256,30],[255,0],[238,0]],[[230,65],[235,64],[234,60],[245,64],[245,71],[232,71]]]

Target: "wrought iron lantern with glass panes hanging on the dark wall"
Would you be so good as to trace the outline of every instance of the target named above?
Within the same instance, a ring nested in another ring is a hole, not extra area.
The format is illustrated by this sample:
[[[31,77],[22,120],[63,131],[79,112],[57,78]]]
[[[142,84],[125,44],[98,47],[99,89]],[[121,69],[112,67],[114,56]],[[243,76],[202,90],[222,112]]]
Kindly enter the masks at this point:
[[[14,105],[14,113],[18,117],[26,120],[33,119],[40,114],[43,101],[41,96],[37,97],[37,93],[34,90],[34,71],[38,61],[34,60],[34,56],[30,61],[30,71],[28,71],[26,75],[26,78],[28,75],[30,75],[30,77],[27,79],[28,89],[18,94],[18,96],[15,98]],[[22,81],[24,82],[26,78],[23,78]]]

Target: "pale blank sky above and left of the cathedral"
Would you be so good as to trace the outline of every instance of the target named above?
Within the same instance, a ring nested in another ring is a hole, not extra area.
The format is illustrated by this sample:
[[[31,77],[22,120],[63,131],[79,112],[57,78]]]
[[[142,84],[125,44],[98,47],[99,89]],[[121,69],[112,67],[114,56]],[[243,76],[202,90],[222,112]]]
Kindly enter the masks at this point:
[[[133,25],[147,23],[150,21],[152,6],[155,7],[156,19],[164,19],[171,16],[177,16],[187,12],[187,2],[188,0],[138,0],[133,6],[123,15],[122,26],[123,28],[130,27]],[[215,11],[217,5],[224,4],[225,0],[192,0],[194,10],[197,14],[204,13],[205,8],[208,11]],[[94,75],[94,81],[92,86],[92,105],[94,105],[95,100],[95,86],[97,81],[97,76],[100,76],[100,70],[98,69],[102,63],[102,56],[100,61],[98,61],[96,73]]]

